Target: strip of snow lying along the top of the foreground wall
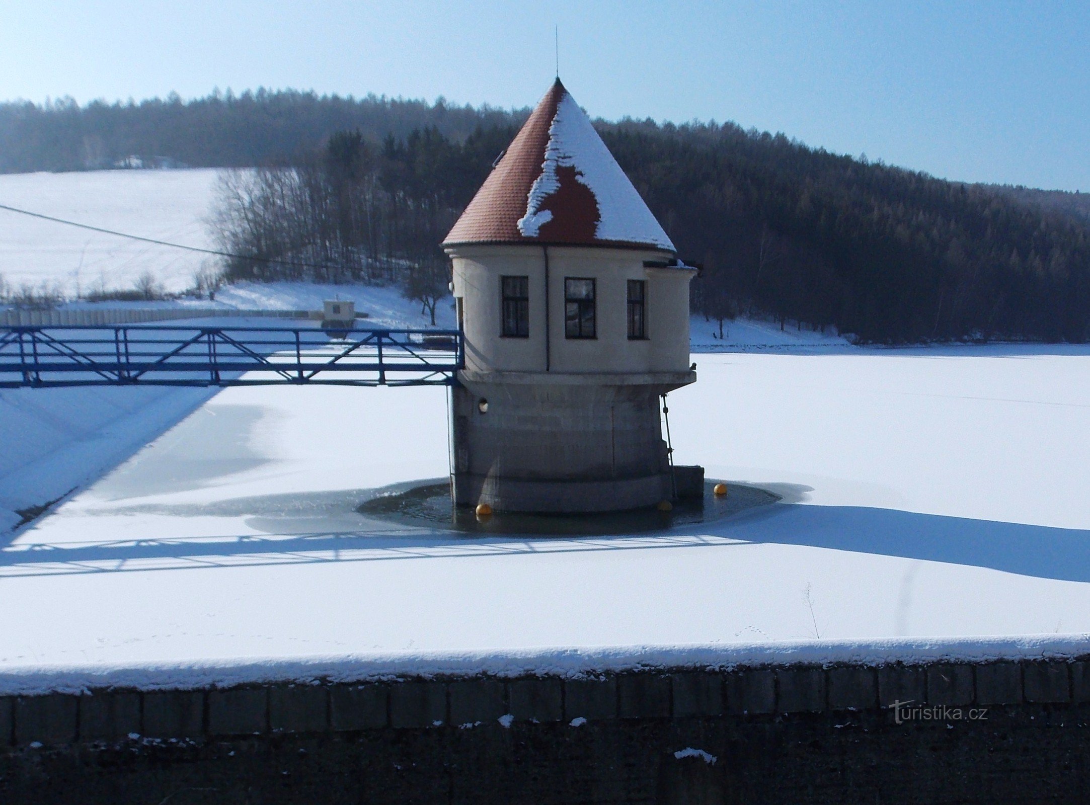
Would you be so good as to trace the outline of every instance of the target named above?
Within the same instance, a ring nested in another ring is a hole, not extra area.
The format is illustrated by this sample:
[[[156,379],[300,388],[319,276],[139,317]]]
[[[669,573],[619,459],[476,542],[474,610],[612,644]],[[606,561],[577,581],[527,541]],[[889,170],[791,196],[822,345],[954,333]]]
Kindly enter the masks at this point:
[[[891,662],[981,662],[1067,659],[1090,651],[1090,634],[1027,635],[965,641],[888,639],[865,644],[838,641],[751,643],[724,646],[608,646],[469,651],[398,651],[312,657],[256,656],[238,660],[158,663],[27,664],[0,670],[0,695],[80,693],[105,687],[194,690],[277,682],[367,682],[398,678],[486,674],[580,679],[604,671],[641,669],[729,671],[739,667]],[[576,722],[579,723],[576,723]],[[586,723],[577,718],[572,727]]]

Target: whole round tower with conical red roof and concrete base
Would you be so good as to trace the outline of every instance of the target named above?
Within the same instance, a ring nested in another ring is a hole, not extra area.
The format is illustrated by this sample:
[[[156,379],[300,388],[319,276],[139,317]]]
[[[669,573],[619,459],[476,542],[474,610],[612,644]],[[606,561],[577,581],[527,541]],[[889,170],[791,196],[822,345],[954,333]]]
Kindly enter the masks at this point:
[[[559,80],[444,247],[465,336],[456,502],[570,512],[669,500],[659,398],[697,379],[695,270]]]

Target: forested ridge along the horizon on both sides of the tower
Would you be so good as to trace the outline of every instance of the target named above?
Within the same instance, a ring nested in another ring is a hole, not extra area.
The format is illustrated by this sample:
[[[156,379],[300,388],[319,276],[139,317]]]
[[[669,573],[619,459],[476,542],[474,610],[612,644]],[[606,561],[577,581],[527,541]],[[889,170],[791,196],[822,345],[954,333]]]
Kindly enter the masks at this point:
[[[302,93],[9,103],[0,106],[0,170],[80,169],[129,155],[194,167],[314,164],[332,133],[354,130],[372,144],[359,180],[370,183],[367,198],[382,188],[398,248],[420,255],[432,242],[403,233],[433,239],[524,114]],[[1090,339],[1083,194],[946,182],[729,123],[597,125],[681,256],[703,265],[698,310],[832,325],[865,341]],[[413,225],[398,229],[404,216]]]

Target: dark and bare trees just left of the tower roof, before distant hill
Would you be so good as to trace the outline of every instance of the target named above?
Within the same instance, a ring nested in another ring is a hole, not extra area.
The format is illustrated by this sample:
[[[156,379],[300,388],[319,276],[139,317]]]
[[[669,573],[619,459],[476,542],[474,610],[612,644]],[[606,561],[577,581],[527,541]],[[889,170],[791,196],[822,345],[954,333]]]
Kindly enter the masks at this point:
[[[398,283],[435,324],[448,293],[438,244],[513,127],[479,129],[455,143],[438,129],[388,135],[337,132],[291,164],[232,171],[215,211],[225,277],[234,280]],[[439,179],[441,176],[441,180]]]

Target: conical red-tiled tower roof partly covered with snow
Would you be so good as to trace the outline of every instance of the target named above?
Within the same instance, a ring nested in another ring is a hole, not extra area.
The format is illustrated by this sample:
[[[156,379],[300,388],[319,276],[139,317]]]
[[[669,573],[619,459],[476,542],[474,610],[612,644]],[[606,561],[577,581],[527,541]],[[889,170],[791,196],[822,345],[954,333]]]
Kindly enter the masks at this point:
[[[559,78],[445,240],[676,252]]]

